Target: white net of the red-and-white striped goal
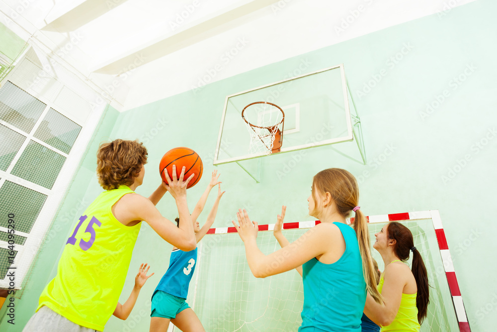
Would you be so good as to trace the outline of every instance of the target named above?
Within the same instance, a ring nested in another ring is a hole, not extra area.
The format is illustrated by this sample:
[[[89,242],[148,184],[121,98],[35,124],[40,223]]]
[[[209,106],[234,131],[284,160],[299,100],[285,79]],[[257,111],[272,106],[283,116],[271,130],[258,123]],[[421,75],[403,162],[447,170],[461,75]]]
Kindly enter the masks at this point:
[[[428,316],[421,331],[459,331],[432,220],[400,222],[414,235],[414,245],[423,257],[431,286]],[[368,224],[372,241],[384,224]],[[292,242],[306,230],[283,232]],[[198,265],[187,299],[206,331],[297,331],[302,323],[304,301],[301,276],[292,270],[255,278],[248,268],[245,247],[238,234],[226,233],[226,228],[223,232],[208,234],[200,242]],[[280,248],[271,230],[259,231],[257,243],[265,254]],[[374,249],[372,252],[383,270],[381,256]]]

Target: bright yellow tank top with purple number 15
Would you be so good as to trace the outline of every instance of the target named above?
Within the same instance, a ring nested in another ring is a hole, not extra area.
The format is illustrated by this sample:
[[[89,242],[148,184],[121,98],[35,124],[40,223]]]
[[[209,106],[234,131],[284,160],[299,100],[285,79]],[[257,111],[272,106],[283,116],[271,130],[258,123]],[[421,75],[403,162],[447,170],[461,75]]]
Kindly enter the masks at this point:
[[[84,211],[36,311],[47,306],[78,325],[103,331],[116,309],[141,227],[141,222],[125,226],[112,214],[112,206],[129,193],[123,185],[108,190]]]

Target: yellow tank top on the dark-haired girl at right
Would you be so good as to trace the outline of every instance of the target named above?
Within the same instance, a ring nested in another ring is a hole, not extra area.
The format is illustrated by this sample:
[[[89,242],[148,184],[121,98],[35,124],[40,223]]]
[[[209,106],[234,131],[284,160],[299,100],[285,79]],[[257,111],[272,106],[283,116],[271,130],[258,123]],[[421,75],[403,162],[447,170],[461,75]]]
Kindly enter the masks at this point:
[[[394,260],[393,262],[400,262],[400,260]],[[381,293],[383,289],[383,274],[380,278],[380,283],[378,284],[378,291]],[[394,321],[389,326],[382,326],[381,331],[411,331],[417,332],[421,328],[417,321],[417,307],[416,307],[416,296],[414,294],[404,294],[402,293],[401,305],[397,316],[395,316]]]

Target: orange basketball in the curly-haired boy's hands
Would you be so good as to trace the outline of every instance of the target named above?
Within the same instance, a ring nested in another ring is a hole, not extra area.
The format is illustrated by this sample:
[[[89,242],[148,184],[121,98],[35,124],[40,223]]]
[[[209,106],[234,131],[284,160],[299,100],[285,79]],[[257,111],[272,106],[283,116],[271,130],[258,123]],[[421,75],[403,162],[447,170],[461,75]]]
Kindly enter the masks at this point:
[[[188,182],[188,186],[186,187],[187,189],[196,185],[198,180],[202,177],[202,160],[192,149],[187,147],[176,147],[167,151],[162,157],[161,163],[159,164],[159,172],[161,172],[161,178],[166,183],[166,170],[169,178],[172,180],[172,165],[176,165],[177,179],[179,179],[179,176],[181,175],[181,169],[183,166],[185,167],[183,181],[188,179],[190,175],[195,174],[190,182]]]

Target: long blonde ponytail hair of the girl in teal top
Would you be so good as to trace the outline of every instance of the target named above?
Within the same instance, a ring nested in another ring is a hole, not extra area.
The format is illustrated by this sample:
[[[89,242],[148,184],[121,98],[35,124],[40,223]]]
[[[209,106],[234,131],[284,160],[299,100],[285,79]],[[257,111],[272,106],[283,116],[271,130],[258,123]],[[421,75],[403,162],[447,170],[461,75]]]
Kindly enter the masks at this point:
[[[338,213],[346,218],[350,215],[352,209],[359,202],[359,189],[354,176],[348,171],[340,168],[325,169],[314,176],[313,188],[320,194],[330,193],[331,199],[336,204]],[[318,202],[314,190],[312,191],[314,202]],[[311,215],[316,215],[318,206],[315,204],[314,211]],[[367,291],[378,303],[383,303],[383,297],[378,292],[377,271],[378,268],[373,266],[373,258],[369,243],[369,231],[366,217],[361,210],[355,212],[354,229],[359,243],[359,252],[362,258],[362,272],[366,281]]]

